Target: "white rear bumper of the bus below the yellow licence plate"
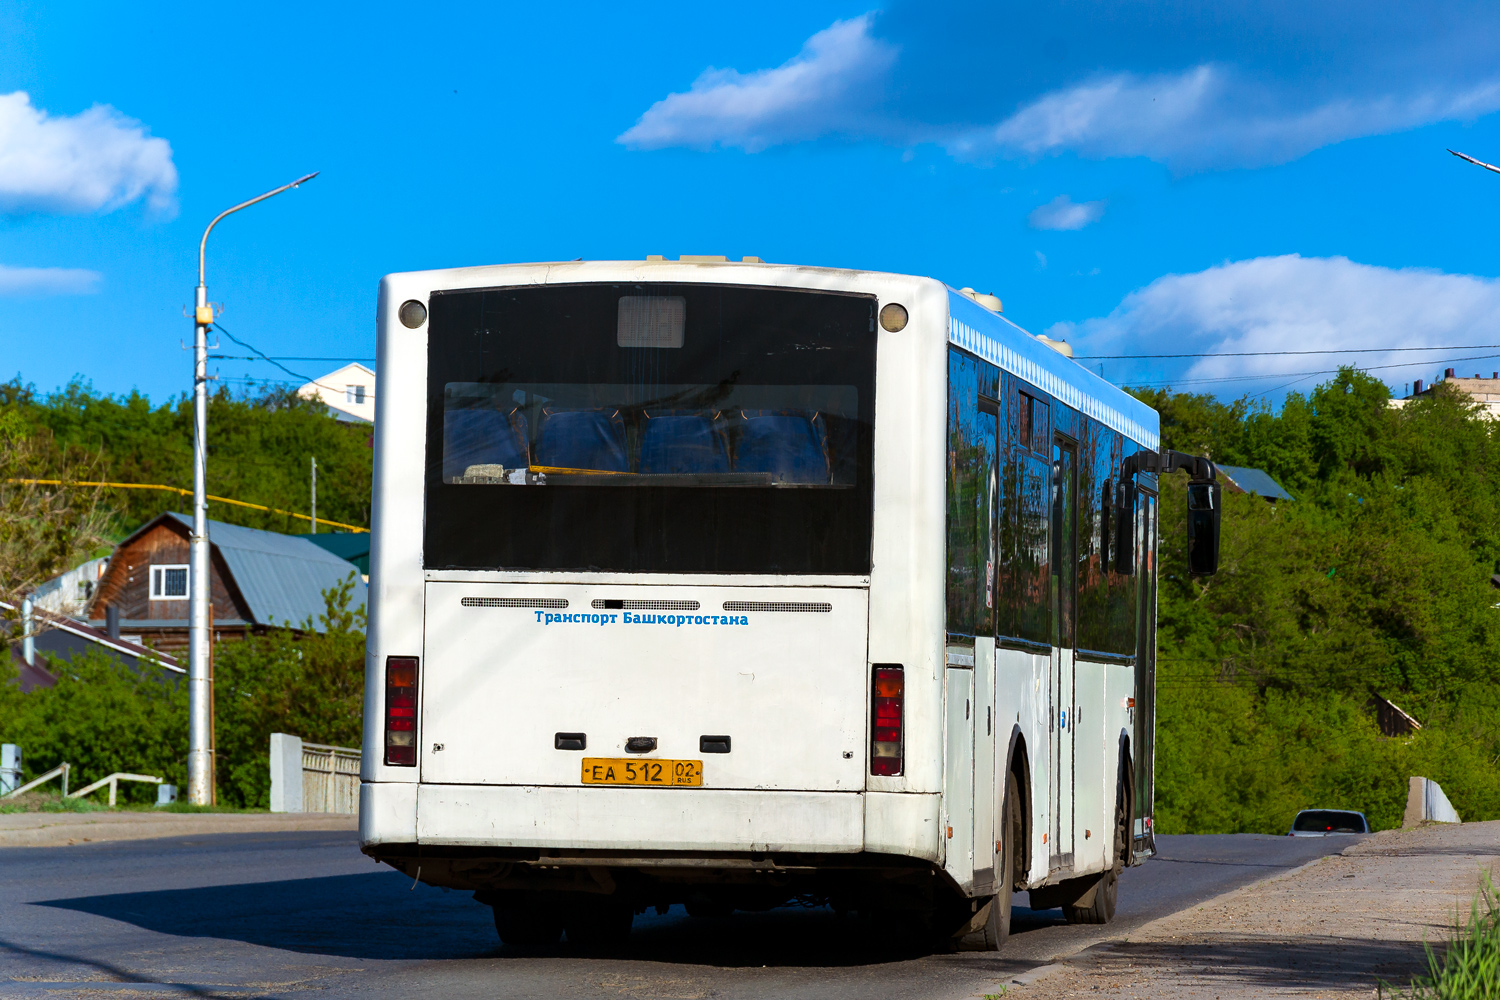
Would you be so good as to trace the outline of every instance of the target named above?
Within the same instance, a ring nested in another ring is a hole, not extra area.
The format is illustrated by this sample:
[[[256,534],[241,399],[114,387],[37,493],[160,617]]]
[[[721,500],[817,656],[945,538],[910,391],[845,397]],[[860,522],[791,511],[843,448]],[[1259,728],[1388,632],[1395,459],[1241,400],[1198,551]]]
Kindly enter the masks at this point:
[[[366,783],[360,841],[558,850],[864,850],[864,793]]]

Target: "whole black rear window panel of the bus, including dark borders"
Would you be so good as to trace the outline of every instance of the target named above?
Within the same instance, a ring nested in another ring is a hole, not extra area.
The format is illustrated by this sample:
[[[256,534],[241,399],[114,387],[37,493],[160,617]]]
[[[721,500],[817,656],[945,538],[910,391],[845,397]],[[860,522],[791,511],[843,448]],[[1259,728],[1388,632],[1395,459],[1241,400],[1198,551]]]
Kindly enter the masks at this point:
[[[428,568],[868,573],[874,298],[429,300]]]

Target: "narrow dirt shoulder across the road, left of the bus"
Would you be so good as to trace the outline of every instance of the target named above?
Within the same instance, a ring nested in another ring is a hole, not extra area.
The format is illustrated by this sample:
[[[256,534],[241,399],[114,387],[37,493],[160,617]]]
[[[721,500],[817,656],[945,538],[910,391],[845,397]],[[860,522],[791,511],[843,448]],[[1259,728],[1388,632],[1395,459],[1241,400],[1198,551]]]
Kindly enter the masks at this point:
[[[10,813],[0,816],[0,847],[63,847],[152,837],[351,829],[358,829],[358,817],[336,813]]]

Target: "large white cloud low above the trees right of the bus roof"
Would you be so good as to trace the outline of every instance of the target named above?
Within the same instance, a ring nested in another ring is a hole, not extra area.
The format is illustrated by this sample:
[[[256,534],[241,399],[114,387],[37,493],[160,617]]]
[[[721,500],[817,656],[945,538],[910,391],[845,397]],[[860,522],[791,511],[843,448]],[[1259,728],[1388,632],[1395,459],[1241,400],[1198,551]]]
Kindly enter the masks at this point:
[[[1101,355],[1452,346],[1494,343],[1497,328],[1497,279],[1290,253],[1167,274],[1126,295],[1107,316],[1058,324],[1047,333],[1074,340],[1080,355]],[[1400,382],[1428,378],[1455,363],[1470,366],[1470,372],[1488,363],[1458,361],[1480,351],[1446,354],[1200,358],[1180,381],[1292,375],[1354,363],[1378,367],[1374,375]],[[1173,364],[1173,370],[1180,369]],[[1130,381],[1130,375],[1122,378]],[[1233,391],[1233,382],[1224,388]]]

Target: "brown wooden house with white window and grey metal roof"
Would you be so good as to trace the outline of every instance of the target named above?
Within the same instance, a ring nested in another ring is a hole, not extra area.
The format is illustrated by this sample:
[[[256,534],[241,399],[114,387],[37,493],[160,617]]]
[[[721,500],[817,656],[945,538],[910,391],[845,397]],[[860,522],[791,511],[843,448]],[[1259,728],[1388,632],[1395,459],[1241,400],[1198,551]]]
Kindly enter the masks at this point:
[[[110,609],[120,634],[164,652],[188,648],[188,537],[192,519],[162,514],[122,541],[88,607],[102,627]],[[320,630],[322,592],[352,576],[351,607],[364,606],[364,582],[348,561],[306,538],[208,522],[210,607],[214,640],[278,627]]]

